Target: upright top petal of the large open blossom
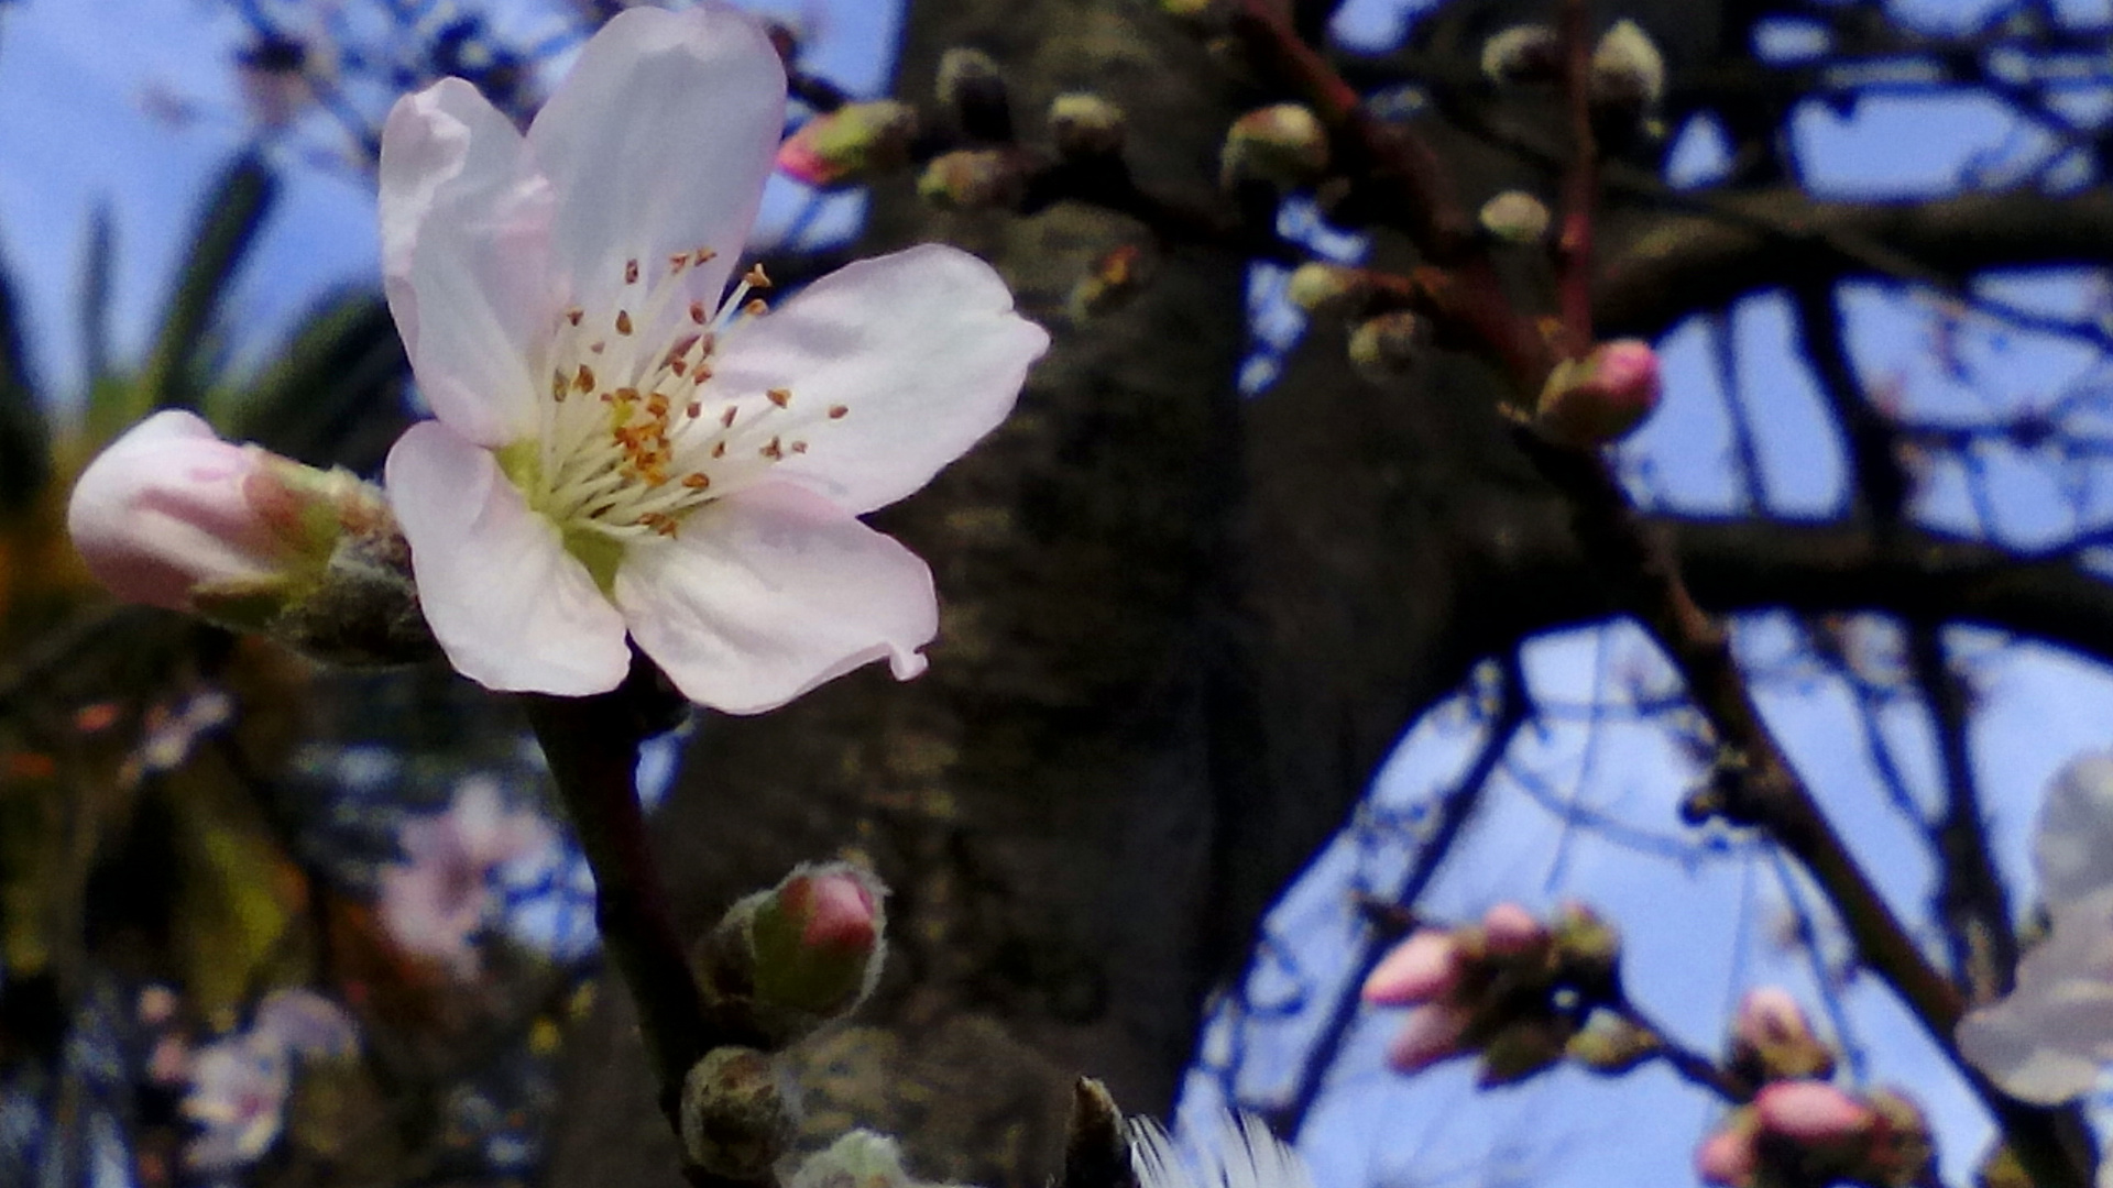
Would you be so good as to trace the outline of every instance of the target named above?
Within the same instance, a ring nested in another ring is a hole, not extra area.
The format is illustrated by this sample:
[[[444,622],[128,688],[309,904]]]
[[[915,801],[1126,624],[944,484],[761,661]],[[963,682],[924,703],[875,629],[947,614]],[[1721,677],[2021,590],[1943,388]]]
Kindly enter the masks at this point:
[[[554,264],[568,300],[602,309],[625,260],[651,271],[712,247],[718,258],[691,273],[687,296],[716,304],[756,220],[784,110],[769,34],[729,4],[630,8],[602,25],[528,129],[558,194]]]

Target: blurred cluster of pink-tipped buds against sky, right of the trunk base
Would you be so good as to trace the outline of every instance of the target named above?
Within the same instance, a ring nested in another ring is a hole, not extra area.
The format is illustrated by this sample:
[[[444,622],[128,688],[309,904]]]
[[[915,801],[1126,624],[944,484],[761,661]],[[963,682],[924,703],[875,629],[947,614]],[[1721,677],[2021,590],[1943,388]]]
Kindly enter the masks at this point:
[[[1365,1002],[1409,1006],[1386,1053],[1401,1072],[1473,1053],[1481,1084],[1511,1084],[1572,1055],[1581,1036],[1629,1063],[1648,1055],[1644,1036],[1587,1029],[1595,1004],[1619,998],[1619,960],[1614,928],[1583,905],[1542,924],[1500,903],[1477,924],[1414,932],[1371,970]]]

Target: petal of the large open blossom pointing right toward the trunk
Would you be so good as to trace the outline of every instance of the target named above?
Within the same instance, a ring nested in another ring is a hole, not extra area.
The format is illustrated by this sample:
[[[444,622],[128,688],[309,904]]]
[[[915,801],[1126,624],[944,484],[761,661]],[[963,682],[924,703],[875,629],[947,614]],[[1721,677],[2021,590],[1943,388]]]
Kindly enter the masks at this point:
[[[1046,349],[995,268],[928,243],[847,264],[729,330],[712,391],[790,389],[771,416],[807,450],[771,476],[871,512],[995,429]]]

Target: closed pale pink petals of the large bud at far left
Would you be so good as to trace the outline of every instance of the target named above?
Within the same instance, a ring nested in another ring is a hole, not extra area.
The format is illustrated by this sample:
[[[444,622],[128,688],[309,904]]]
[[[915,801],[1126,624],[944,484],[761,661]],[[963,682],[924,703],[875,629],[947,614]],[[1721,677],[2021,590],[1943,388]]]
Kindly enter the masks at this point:
[[[197,588],[266,579],[292,552],[249,499],[266,457],[190,412],[156,412],[80,474],[68,533],[118,598],[190,611]]]

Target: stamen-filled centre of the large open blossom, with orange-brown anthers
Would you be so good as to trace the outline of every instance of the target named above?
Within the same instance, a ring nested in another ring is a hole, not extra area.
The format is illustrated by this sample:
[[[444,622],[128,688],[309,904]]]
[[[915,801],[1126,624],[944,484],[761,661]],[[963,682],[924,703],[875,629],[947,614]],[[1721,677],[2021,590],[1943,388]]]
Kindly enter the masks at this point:
[[[818,423],[784,414],[792,406],[786,387],[742,393],[710,383],[718,336],[737,317],[763,315],[750,292],[769,285],[754,266],[712,313],[687,300],[680,283],[710,258],[710,247],[670,256],[651,283],[638,260],[625,260],[615,309],[560,313],[539,440],[501,457],[528,505],[604,586],[623,545],[674,537],[704,503],[807,452],[792,433]],[[830,406],[826,421],[847,412]]]

